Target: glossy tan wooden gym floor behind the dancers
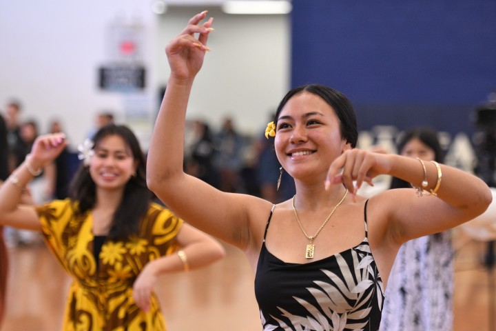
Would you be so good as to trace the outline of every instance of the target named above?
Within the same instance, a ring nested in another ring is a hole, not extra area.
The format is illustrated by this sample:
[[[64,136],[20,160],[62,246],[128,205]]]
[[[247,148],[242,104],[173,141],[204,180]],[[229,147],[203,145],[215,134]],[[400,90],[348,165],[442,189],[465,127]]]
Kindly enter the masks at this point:
[[[488,243],[463,241],[455,257],[454,331],[496,331],[496,276]],[[240,250],[203,270],[163,277],[157,286],[168,330],[261,330],[254,277]],[[70,279],[44,245],[10,250],[7,314],[0,331],[60,330]],[[407,331],[407,330],[406,330]]]

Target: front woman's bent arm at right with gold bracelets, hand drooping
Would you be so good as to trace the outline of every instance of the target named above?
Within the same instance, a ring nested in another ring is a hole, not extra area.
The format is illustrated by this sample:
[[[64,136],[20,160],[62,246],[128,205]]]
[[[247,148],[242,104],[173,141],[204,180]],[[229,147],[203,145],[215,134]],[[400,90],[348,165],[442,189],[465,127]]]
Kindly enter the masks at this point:
[[[363,181],[369,182],[379,174],[389,174],[424,189],[420,190],[424,192],[422,197],[417,197],[414,189],[399,189],[373,198],[380,205],[382,217],[389,220],[389,234],[399,243],[469,221],[482,214],[493,199],[488,185],[468,172],[411,157],[357,149],[335,159],[328,173],[328,185],[342,182],[355,193]]]

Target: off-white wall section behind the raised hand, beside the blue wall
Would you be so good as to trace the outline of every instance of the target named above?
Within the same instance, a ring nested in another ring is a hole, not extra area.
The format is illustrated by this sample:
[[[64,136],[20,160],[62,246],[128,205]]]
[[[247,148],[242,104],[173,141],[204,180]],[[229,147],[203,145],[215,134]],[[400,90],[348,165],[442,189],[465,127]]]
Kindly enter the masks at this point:
[[[171,8],[158,25],[158,81],[167,82],[167,42],[193,14],[205,8]],[[202,70],[189,101],[189,117],[203,117],[214,127],[225,115],[245,134],[263,134],[269,113],[289,88],[289,17],[228,15],[207,8],[215,31],[209,36]]]

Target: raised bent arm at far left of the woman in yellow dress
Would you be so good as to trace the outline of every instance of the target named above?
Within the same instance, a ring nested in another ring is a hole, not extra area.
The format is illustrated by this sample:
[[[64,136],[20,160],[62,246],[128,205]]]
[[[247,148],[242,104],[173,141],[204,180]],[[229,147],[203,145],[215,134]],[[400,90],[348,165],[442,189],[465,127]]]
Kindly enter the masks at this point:
[[[63,134],[37,138],[31,154],[0,186],[0,225],[26,230],[40,230],[41,225],[33,205],[23,205],[23,191],[37,170],[50,163],[65,148]]]

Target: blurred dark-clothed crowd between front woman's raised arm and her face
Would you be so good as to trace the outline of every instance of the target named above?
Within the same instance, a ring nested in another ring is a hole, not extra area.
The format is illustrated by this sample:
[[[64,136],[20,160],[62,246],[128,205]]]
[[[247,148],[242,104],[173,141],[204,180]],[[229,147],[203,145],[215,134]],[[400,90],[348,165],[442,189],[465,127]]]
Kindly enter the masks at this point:
[[[256,195],[274,203],[289,199],[294,185],[282,179],[277,190],[280,165],[273,140],[267,140],[262,129],[258,137],[249,137],[236,130],[231,117],[217,131],[207,121],[188,121],[185,172],[224,192]]]

